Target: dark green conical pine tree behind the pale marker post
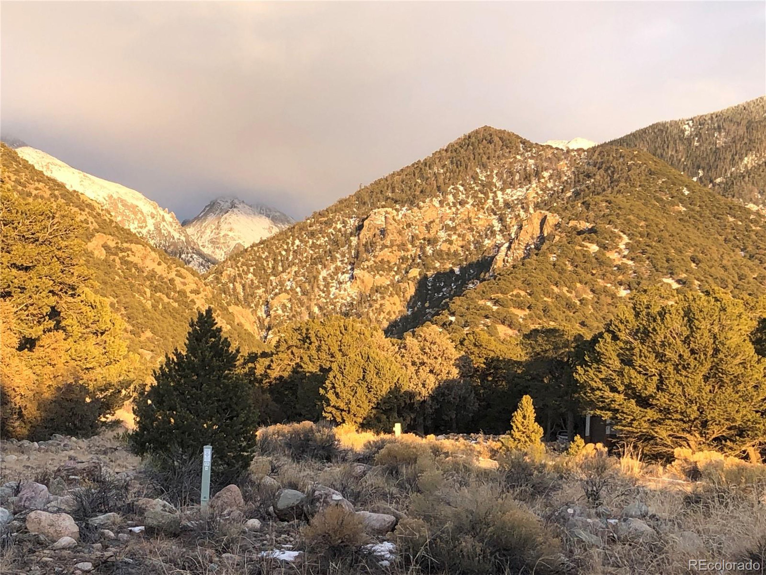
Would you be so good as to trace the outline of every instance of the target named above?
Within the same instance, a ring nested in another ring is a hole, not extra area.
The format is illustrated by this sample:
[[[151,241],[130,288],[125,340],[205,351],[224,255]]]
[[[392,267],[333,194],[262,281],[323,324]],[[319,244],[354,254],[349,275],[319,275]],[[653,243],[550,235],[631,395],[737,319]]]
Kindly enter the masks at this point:
[[[217,481],[247,469],[257,429],[253,389],[238,369],[239,349],[221,336],[210,307],[189,323],[185,351],[175,350],[155,371],[155,384],[135,401],[133,448],[139,455],[198,455],[213,447]]]

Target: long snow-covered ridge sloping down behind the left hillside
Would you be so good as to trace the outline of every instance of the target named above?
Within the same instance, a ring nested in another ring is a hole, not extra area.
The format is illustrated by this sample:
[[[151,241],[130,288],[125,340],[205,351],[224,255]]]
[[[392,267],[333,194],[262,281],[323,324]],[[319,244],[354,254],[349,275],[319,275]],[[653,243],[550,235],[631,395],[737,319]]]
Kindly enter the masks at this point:
[[[46,176],[100,204],[119,225],[144,238],[155,248],[181,259],[199,272],[207,271],[214,263],[189,237],[172,212],[135,189],[81,172],[30,146],[21,146],[16,152]]]

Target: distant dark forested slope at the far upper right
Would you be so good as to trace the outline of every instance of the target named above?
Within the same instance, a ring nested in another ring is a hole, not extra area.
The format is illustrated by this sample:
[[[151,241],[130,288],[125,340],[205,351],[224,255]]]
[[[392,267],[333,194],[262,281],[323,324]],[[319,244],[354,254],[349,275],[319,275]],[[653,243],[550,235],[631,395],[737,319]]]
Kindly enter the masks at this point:
[[[610,144],[644,149],[727,198],[766,209],[766,96],[653,123]]]

